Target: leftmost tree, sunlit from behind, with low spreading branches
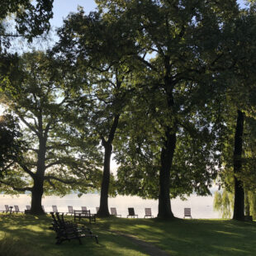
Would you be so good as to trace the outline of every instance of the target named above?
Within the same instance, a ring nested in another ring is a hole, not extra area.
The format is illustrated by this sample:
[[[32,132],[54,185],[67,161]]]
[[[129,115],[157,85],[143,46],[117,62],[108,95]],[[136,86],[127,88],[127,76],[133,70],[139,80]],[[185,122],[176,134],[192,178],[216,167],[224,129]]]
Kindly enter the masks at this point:
[[[43,193],[64,195],[97,188],[101,160],[97,143],[76,129],[69,105],[70,76],[58,59],[42,52],[22,55],[21,83],[2,92],[2,102],[21,121],[27,152],[7,168],[2,191],[31,192],[31,213],[43,214]]]

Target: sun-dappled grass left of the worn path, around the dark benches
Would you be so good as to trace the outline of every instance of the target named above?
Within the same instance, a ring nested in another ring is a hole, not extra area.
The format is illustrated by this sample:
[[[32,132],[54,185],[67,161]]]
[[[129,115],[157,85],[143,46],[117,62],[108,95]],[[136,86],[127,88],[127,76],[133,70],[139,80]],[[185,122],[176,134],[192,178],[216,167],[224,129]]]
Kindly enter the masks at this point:
[[[72,220],[71,217],[67,217]],[[100,220],[107,225],[106,220]],[[138,255],[143,256],[139,246],[132,244],[129,240],[112,234],[110,225],[107,229],[102,229],[101,224],[88,222],[84,223],[90,227],[93,234],[99,236],[99,244],[94,239],[84,238],[83,244],[78,244],[74,239],[65,241],[61,245],[55,244],[55,232],[50,230],[50,216],[29,216],[29,215],[0,215],[0,239],[7,234],[14,239],[18,239],[21,244],[26,244],[26,248],[36,251],[37,255]],[[32,254],[29,254],[32,255]]]

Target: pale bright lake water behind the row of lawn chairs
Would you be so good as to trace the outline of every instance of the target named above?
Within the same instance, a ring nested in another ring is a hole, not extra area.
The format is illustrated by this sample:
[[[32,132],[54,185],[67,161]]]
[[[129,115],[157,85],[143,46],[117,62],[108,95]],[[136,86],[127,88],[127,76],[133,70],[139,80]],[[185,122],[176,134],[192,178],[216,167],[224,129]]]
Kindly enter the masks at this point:
[[[68,211],[68,206],[73,206],[74,210],[81,210],[81,206],[87,206],[88,210],[96,213],[96,207],[99,206],[100,197],[98,194],[87,194],[78,197],[75,194],[67,195],[65,197],[44,197],[42,205],[45,206],[45,211],[52,211],[52,206],[56,205],[58,211]],[[20,211],[24,211],[27,205],[31,204],[30,195],[20,195],[19,197],[10,197],[0,195],[0,211],[4,210],[4,205],[17,205]],[[156,216],[158,213],[157,200],[144,200],[140,197],[123,197],[117,196],[109,198],[109,207],[116,207],[117,214],[126,217],[128,214],[128,207],[135,208],[135,214],[140,218],[145,216],[145,208],[149,207],[152,210],[152,215]],[[179,198],[171,201],[172,211],[174,216],[183,218],[184,208],[191,208],[192,218],[196,219],[212,219],[219,218],[218,212],[213,211],[213,197],[197,197],[192,195],[187,198],[187,201],[182,201]]]

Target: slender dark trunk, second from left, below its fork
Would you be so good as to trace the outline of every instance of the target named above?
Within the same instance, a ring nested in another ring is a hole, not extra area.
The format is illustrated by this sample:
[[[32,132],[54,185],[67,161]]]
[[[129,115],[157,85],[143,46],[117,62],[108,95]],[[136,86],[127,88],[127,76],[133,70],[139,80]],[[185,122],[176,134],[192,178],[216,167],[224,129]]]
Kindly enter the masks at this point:
[[[102,177],[102,189],[101,189],[101,199],[100,199],[100,207],[97,211],[97,216],[107,217],[110,216],[108,211],[108,188],[110,182],[110,161],[112,154],[112,145],[106,144],[104,145],[105,154],[104,154],[104,168],[103,168],[103,177]]]

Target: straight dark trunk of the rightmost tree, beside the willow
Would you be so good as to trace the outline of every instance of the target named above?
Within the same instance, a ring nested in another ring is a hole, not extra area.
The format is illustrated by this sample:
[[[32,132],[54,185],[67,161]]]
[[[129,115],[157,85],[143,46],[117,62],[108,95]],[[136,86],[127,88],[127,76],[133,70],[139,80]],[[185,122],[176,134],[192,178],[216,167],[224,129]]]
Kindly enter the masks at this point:
[[[235,147],[234,147],[234,179],[235,179],[235,203],[233,220],[244,220],[244,186],[236,174],[242,171],[242,150],[244,132],[244,113],[237,111],[237,122],[235,127]]]

